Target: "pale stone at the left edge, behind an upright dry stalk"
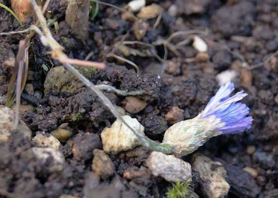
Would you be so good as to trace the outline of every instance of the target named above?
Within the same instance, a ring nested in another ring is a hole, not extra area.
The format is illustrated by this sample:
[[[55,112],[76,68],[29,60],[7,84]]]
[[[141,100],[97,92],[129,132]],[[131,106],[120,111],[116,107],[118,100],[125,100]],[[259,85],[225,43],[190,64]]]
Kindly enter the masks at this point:
[[[0,142],[6,142],[12,137],[12,127],[15,120],[15,113],[10,108],[0,105]],[[29,127],[20,119],[18,131],[24,135],[24,139],[31,140],[32,132]]]

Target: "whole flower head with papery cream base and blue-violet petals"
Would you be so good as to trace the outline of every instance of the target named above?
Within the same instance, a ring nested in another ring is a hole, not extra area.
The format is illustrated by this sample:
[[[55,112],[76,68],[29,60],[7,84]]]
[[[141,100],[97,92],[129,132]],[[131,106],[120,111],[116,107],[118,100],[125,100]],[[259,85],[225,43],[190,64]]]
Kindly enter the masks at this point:
[[[209,100],[205,109],[193,119],[171,126],[164,135],[163,143],[174,148],[175,154],[184,156],[202,146],[209,138],[221,134],[234,134],[249,129],[252,117],[249,108],[238,100],[247,96],[243,91],[229,97],[233,83],[221,86]]]

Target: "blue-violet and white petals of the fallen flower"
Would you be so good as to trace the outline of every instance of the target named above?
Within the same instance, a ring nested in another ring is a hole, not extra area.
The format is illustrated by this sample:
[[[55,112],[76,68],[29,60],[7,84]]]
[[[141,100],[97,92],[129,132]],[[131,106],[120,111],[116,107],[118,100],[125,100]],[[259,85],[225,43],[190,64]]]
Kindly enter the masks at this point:
[[[209,100],[206,108],[199,114],[200,118],[208,118],[211,115],[220,118],[221,122],[225,124],[218,129],[222,134],[240,133],[245,129],[250,129],[253,120],[252,116],[246,117],[249,114],[249,108],[243,103],[236,103],[247,94],[241,91],[229,98],[233,90],[234,84],[231,82],[221,86],[216,95]]]

